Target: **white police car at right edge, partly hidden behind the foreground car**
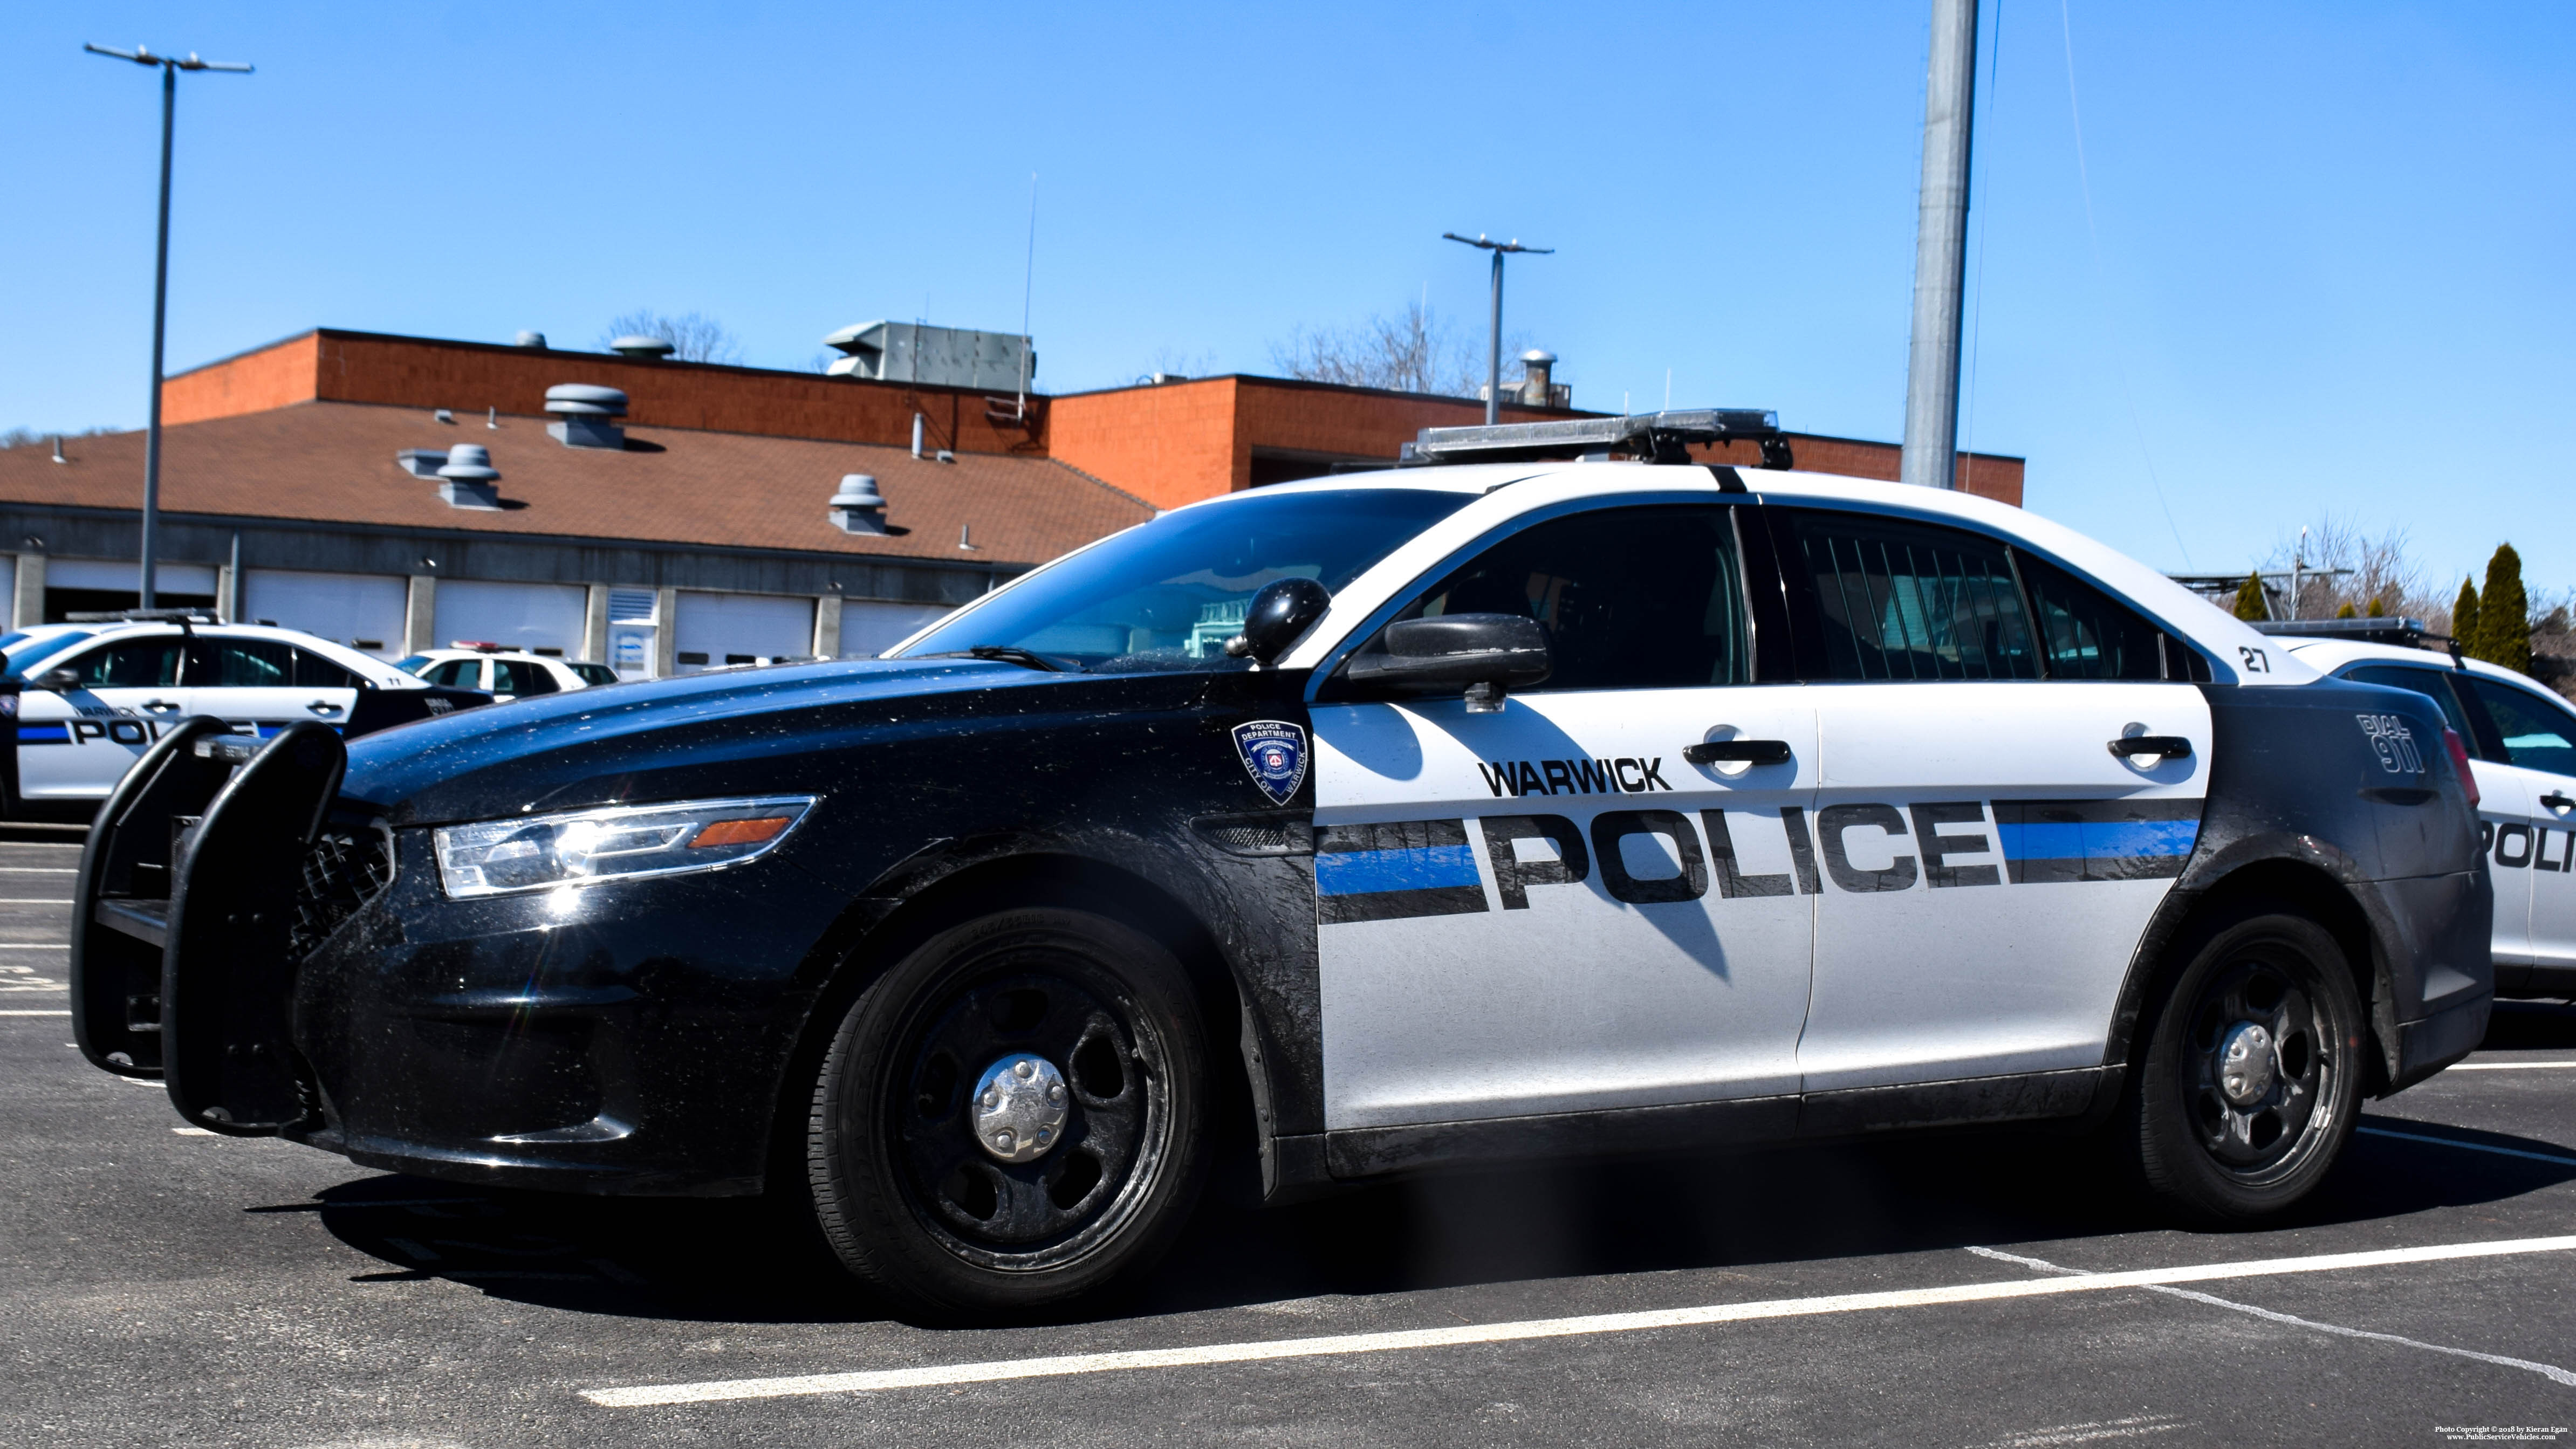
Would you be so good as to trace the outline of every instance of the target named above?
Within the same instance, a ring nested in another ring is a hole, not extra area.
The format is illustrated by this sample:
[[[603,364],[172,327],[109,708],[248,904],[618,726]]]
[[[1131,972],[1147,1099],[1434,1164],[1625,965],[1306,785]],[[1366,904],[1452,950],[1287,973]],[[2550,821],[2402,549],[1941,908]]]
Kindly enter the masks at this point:
[[[2254,625],[2303,664],[2432,695],[2470,754],[2496,878],[2496,996],[2576,999],[2576,710],[2545,685],[2437,651],[2411,618]]]

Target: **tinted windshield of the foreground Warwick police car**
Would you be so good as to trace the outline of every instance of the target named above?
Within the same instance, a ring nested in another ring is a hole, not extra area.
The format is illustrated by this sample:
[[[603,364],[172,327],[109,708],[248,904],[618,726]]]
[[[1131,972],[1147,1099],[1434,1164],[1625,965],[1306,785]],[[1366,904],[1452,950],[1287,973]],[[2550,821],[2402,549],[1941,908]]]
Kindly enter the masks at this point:
[[[904,651],[1025,649],[1092,672],[1247,669],[1226,659],[1244,605],[1273,579],[1340,592],[1476,494],[1332,489],[1185,507],[966,610]]]

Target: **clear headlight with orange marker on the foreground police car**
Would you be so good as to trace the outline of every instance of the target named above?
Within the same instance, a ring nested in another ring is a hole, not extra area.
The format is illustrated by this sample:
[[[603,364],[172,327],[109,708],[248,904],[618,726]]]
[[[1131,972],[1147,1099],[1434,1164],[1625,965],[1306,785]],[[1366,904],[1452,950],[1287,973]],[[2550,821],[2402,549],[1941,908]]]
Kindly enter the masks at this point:
[[[680,800],[440,826],[438,880],[466,898],[742,865],[788,839],[814,800]]]

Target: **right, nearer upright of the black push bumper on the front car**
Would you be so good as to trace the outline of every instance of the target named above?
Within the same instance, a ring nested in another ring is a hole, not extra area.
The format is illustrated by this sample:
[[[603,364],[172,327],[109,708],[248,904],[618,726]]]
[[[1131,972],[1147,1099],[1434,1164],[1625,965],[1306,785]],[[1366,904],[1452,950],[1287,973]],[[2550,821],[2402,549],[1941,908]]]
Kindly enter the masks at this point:
[[[162,1076],[180,1117],[234,1138],[317,1120],[294,1050],[296,893],[348,749],[314,721],[278,731],[206,806],[178,862],[162,952]]]

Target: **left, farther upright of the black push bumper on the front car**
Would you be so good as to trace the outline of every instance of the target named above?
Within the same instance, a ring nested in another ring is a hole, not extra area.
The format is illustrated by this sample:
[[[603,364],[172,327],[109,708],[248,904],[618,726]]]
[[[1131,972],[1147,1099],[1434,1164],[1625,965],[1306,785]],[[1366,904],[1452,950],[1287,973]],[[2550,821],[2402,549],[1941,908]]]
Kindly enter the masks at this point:
[[[160,1076],[162,945],[183,821],[204,813],[234,762],[198,741],[229,739],[224,721],[196,715],[160,736],[116,782],[72,885],[72,1040],[90,1066]]]

